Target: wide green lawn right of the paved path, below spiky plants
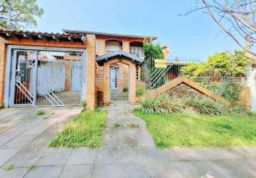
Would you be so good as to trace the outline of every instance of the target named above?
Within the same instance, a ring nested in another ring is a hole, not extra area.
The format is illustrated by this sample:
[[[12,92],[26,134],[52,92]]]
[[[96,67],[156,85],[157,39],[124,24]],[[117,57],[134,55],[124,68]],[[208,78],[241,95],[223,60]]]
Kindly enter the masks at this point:
[[[255,116],[134,114],[147,123],[159,148],[256,145]]]

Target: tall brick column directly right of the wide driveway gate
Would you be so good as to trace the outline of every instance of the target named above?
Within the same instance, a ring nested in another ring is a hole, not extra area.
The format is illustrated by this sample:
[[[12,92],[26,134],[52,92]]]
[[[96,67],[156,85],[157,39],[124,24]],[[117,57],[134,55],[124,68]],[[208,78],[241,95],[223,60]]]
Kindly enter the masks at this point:
[[[86,101],[87,108],[93,109],[95,100],[95,69],[96,69],[96,37],[87,34],[87,59],[86,59]]]

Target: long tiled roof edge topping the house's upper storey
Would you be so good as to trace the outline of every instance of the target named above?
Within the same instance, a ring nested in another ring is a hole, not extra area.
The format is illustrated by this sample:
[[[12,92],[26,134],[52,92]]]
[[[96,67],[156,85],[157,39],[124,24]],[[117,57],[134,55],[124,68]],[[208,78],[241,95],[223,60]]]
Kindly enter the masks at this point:
[[[114,37],[127,37],[127,38],[146,38],[156,40],[157,36],[140,36],[140,35],[131,35],[131,34],[119,34],[119,33],[104,33],[99,31],[75,31],[75,30],[66,30],[63,29],[63,31],[67,34],[94,34],[98,36],[114,36]]]

